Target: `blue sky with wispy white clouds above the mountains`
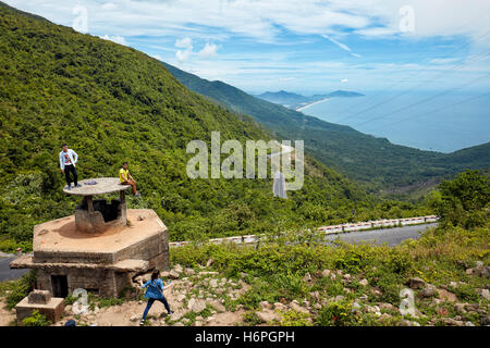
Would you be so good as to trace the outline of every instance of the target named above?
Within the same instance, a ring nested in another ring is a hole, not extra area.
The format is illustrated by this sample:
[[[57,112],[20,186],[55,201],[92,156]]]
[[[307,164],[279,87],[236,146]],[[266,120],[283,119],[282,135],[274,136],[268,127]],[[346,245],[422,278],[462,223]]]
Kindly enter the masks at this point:
[[[3,0],[250,94],[486,91],[488,0]]]

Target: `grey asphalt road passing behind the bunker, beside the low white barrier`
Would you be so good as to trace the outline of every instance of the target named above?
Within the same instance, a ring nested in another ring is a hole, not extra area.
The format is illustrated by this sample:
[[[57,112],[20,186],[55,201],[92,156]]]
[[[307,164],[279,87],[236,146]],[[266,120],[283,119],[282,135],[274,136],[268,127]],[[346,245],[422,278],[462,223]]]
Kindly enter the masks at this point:
[[[340,238],[347,243],[376,243],[383,244],[387,243],[389,246],[395,246],[405,239],[418,239],[420,233],[427,228],[437,226],[437,223],[415,225],[415,226],[404,226],[404,227],[393,227],[383,229],[371,229],[371,231],[359,231],[350,232],[340,235],[328,235],[328,240],[334,240]],[[11,270],[9,269],[9,263],[15,259],[14,257],[0,258],[0,282],[8,279],[20,278],[27,270]]]

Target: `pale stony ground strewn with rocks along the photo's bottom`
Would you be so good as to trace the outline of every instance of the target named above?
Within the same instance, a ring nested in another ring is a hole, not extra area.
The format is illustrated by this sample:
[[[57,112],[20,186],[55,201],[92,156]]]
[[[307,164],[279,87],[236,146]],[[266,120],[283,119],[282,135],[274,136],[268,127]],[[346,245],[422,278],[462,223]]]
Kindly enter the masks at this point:
[[[240,298],[250,288],[248,282],[254,277],[242,273],[237,279],[223,277],[210,269],[212,260],[198,270],[183,269],[176,264],[170,272],[162,272],[161,277],[172,282],[164,290],[172,315],[168,315],[161,302],[155,302],[147,322],[148,326],[213,326],[213,325],[311,325],[314,319],[322,307],[329,303],[343,302],[345,299],[355,299],[350,304],[354,314],[370,318],[384,325],[452,325],[475,326],[490,325],[488,303],[490,300],[490,286],[478,289],[478,301],[468,303],[458,300],[455,294],[464,282],[451,282],[446,286],[436,287],[418,277],[411,278],[406,287],[412,295],[406,299],[417,300],[417,306],[388,303],[376,301],[380,294],[376,286],[371,286],[366,278],[359,278],[341,270],[323,270],[316,274],[307,273],[303,282],[311,286],[316,282],[341,282],[344,295],[329,296],[328,291],[315,290],[309,296],[286,301],[281,299],[270,303],[261,301],[258,308],[246,309]],[[466,274],[470,276],[488,277],[489,266],[477,263],[468,268]],[[146,301],[142,299],[143,293],[138,290],[137,282],[146,281],[149,274],[136,277],[133,291],[137,294],[135,300],[124,300],[121,303],[108,306],[97,300],[91,301],[90,309],[84,314],[74,314],[72,306],[65,307],[62,320],[56,326],[73,319],[77,325],[97,326],[136,326],[139,325]],[[359,287],[363,289],[359,291]],[[356,290],[354,290],[356,288]],[[139,291],[139,293],[138,293]],[[360,295],[362,294],[362,295]],[[14,311],[1,306],[0,325],[9,325],[15,319]],[[418,309],[422,309],[424,313]],[[405,315],[401,310],[405,309]],[[294,319],[292,321],[292,318]]]

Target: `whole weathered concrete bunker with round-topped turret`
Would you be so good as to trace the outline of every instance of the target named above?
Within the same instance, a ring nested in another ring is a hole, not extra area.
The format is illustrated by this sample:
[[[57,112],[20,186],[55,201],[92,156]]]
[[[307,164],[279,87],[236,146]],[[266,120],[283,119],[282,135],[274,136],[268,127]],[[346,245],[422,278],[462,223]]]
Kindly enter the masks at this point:
[[[136,275],[170,269],[168,229],[154,210],[126,209],[130,186],[117,177],[79,183],[82,187],[64,189],[83,197],[75,213],[36,225],[33,256],[12,261],[10,268],[35,270],[36,288],[59,298],[76,288],[118,297]],[[94,199],[113,192],[119,198]]]

